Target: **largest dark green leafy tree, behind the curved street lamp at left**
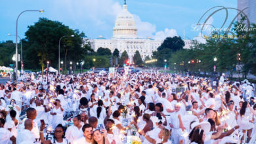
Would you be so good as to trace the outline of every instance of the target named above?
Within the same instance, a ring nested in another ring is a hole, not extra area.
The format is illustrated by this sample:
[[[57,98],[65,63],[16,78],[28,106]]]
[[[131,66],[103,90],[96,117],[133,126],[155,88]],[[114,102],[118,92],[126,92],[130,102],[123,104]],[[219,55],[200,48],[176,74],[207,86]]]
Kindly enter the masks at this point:
[[[37,69],[39,65],[43,69],[47,61],[50,61],[53,67],[58,67],[58,43],[64,35],[74,35],[64,37],[60,41],[60,59],[65,60],[65,67],[66,63],[75,63],[88,53],[88,49],[82,46],[85,34],[70,29],[61,22],[39,18],[34,25],[28,26],[25,35],[24,60],[33,69]]]

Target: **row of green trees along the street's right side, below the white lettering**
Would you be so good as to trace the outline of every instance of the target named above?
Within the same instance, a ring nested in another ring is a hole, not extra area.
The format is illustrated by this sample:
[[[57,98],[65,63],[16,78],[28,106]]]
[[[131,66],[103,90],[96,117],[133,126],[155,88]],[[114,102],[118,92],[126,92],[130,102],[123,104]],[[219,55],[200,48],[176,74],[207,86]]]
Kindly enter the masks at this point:
[[[239,24],[236,22],[234,27]],[[242,24],[244,26],[244,24]],[[256,29],[256,25],[253,25]],[[224,73],[229,71],[229,77],[232,77],[238,65],[237,54],[241,54],[241,65],[244,65],[242,72],[246,76],[248,73],[256,75],[256,31],[234,31],[234,35],[246,35],[245,39],[217,39],[210,37],[205,44],[199,44],[194,41],[194,46],[189,50],[177,50],[171,54],[169,59],[169,65],[171,69],[177,69],[178,71],[207,71],[213,72],[213,65],[216,65],[216,71]],[[226,35],[224,31],[220,33],[213,33],[213,35]],[[229,35],[231,35],[229,33]],[[165,56],[160,54],[160,56]],[[158,56],[155,54],[154,56]],[[158,58],[160,57],[158,56]],[[217,58],[214,62],[213,59]],[[192,60],[194,60],[192,63]],[[199,62],[200,60],[200,62]],[[190,63],[188,63],[190,61]],[[184,62],[184,65],[181,64]],[[176,63],[176,65],[175,65]]]

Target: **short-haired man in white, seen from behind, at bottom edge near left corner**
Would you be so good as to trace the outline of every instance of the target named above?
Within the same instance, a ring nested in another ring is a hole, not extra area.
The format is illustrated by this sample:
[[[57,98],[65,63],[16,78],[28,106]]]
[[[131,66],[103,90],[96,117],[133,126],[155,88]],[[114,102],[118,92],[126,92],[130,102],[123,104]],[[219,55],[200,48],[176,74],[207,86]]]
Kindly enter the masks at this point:
[[[24,123],[25,129],[20,130],[18,132],[17,138],[16,138],[16,143],[20,144],[23,141],[32,141],[34,142],[35,139],[33,138],[33,134],[31,130],[33,129],[33,120],[31,119],[26,119]]]

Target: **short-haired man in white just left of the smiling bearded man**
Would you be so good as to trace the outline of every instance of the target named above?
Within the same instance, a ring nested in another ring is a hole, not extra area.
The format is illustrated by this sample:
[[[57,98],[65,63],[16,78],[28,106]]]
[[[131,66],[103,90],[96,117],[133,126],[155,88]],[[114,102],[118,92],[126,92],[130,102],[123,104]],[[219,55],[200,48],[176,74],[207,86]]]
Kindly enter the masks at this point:
[[[66,139],[73,144],[76,139],[83,137],[83,130],[81,126],[81,117],[77,115],[73,118],[73,125],[66,130]]]

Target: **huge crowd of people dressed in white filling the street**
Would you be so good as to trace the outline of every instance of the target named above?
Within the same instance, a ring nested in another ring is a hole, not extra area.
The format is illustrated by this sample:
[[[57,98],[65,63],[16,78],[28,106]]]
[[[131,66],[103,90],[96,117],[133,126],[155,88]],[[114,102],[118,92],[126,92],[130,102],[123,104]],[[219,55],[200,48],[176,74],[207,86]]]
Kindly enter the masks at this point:
[[[248,81],[166,73],[20,80],[0,85],[3,144],[256,143]]]

